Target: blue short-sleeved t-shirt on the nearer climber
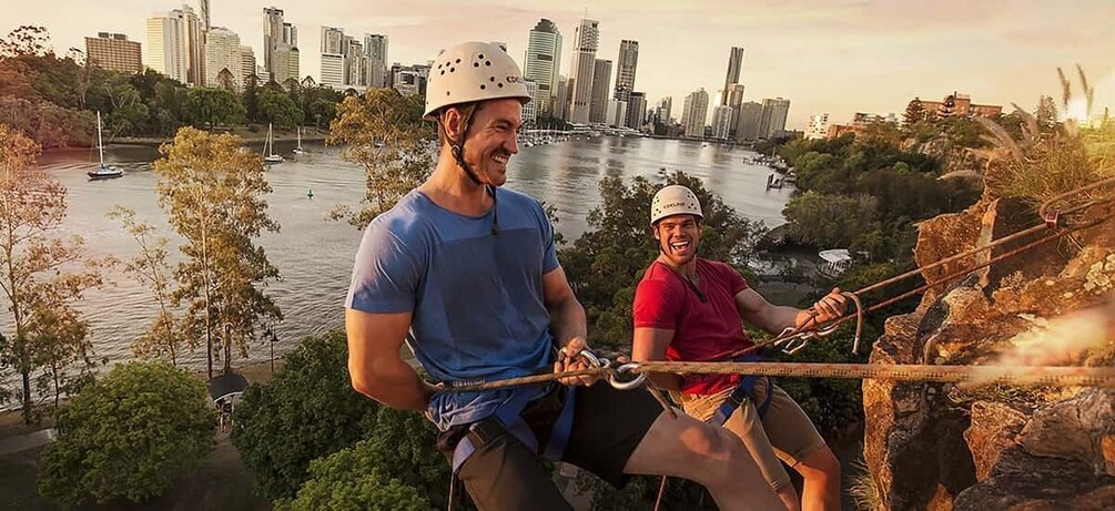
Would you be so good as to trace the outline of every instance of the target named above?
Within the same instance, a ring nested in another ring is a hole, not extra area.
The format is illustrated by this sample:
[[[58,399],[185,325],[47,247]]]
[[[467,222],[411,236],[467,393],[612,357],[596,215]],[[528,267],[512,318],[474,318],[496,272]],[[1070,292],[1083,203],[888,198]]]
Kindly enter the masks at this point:
[[[411,190],[368,225],[357,250],[346,306],[413,312],[408,344],[435,381],[517,377],[550,363],[542,275],[558,268],[553,226],[530,196],[496,194],[498,235],[491,210],[460,215]],[[429,416],[444,431],[486,419],[510,395],[435,394]]]

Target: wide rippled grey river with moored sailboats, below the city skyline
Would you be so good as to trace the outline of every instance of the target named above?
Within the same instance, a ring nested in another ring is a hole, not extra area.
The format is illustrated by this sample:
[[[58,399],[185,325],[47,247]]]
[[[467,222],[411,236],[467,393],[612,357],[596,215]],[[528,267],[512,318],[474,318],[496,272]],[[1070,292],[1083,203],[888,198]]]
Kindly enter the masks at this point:
[[[291,143],[278,143],[290,155]],[[281,225],[278,234],[266,234],[260,244],[282,276],[266,293],[281,307],[285,320],[275,326],[279,342],[275,356],[303,336],[338,328],[343,323],[342,303],[349,283],[352,257],[360,233],[343,222],[327,219],[339,204],[356,205],[363,194],[362,170],[345,163],[333,147],[310,145],[310,151],[273,166],[266,178],[274,193],[268,198],[269,214]],[[600,204],[598,184],[607,176],[653,176],[660,167],[682,169],[705,180],[743,216],[763,220],[767,227],[780,225],[782,209],[789,189],[765,190],[766,167],[752,165],[755,153],[729,149],[716,144],[650,138],[600,137],[559,144],[522,147],[508,166],[507,186],[531,194],[558,209],[558,230],[572,240],[586,228],[585,217]],[[169,230],[166,215],[155,194],[157,176],[151,170],[158,158],[148,147],[113,147],[106,160],[125,170],[118,179],[89,181],[85,171],[96,153],[65,151],[42,156],[40,166],[68,190],[68,212],[62,234],[85,237],[93,256],[132,257],[136,243],[106,213],[124,205],[137,218],[155,225],[171,246],[181,243]],[[308,193],[312,190],[312,198]],[[648,205],[649,207],[649,205]],[[172,250],[176,253],[176,250]],[[155,313],[151,294],[123,274],[109,275],[112,285],[86,293],[79,308],[89,321],[96,358],[109,364],[132,356],[132,341],[145,331]],[[7,301],[0,304],[7,312]],[[0,315],[0,332],[11,334],[11,317]],[[260,341],[250,346],[249,358],[234,365],[266,362],[269,346]],[[204,348],[187,354],[184,362],[204,368]],[[14,383],[14,381],[10,381]]]

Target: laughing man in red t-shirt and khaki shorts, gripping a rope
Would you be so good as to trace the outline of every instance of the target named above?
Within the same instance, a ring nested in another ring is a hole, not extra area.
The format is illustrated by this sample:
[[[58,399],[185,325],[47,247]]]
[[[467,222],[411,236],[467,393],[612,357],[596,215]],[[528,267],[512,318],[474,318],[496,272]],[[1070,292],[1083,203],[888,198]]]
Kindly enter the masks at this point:
[[[733,267],[697,257],[704,220],[700,202],[683,186],[667,186],[651,204],[651,229],[660,254],[634,295],[632,358],[715,361],[753,346],[741,321],[772,333],[843,315],[840,289],[812,311],[775,306],[747,286]],[[840,463],[805,412],[766,379],[740,375],[656,374],[660,387],[678,391],[686,413],[719,423],[739,436],[763,475],[789,510],[840,509]],[[798,500],[782,463],[805,479]],[[803,505],[804,503],[804,505]]]

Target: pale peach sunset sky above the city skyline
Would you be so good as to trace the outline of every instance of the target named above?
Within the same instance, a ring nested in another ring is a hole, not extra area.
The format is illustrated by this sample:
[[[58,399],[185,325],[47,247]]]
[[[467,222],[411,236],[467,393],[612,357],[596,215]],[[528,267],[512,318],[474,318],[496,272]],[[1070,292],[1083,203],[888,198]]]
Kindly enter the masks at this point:
[[[84,49],[84,38],[100,31],[144,42],[146,18],[183,2],[2,3],[20,7],[0,9],[0,33],[42,26],[62,53]],[[198,10],[197,0],[185,3]],[[239,33],[262,61],[264,7],[283,9],[298,27],[301,75],[314,79],[321,26],[359,39],[387,35],[392,62],[426,62],[443,48],[483,40],[506,42],[522,65],[541,18],[562,32],[568,76],[573,30],[586,14],[600,22],[597,58],[614,66],[620,40],[639,41],[634,89],[651,105],[671,96],[678,118],[689,92],[704,88],[715,99],[733,46],[745,49],[745,99],[789,99],[791,129],[814,114],[846,122],[856,111],[901,114],[914,97],[940,100],[953,91],[977,104],[1034,110],[1040,95],[1059,102],[1058,67],[1078,82],[1076,65],[1095,87],[1094,114],[1115,107],[1112,0],[211,0],[212,24]],[[614,67],[612,73],[614,86]]]

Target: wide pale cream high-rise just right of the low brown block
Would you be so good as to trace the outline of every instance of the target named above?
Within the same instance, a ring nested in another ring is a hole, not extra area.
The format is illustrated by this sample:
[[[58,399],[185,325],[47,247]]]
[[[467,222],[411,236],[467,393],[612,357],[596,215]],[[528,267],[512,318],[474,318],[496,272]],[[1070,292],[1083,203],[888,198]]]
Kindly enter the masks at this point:
[[[188,6],[147,18],[147,53],[144,63],[169,78],[203,85],[205,55],[202,27]]]

